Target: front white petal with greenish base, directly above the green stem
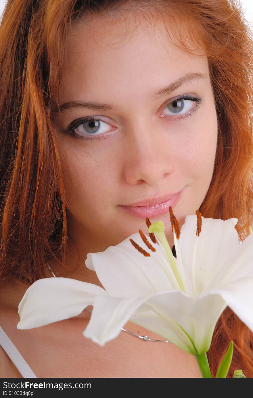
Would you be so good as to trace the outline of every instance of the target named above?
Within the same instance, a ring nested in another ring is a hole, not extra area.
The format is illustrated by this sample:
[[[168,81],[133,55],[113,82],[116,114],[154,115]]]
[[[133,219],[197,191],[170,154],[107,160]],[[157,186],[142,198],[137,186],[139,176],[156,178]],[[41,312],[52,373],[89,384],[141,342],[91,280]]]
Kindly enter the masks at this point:
[[[220,295],[206,294],[202,298],[192,298],[181,291],[159,293],[149,298],[146,304],[151,305],[161,321],[155,323],[147,319],[145,325],[143,322],[140,325],[194,355],[208,351],[216,322],[226,308],[226,302]],[[133,322],[139,324],[139,319],[144,317],[144,313],[137,315]]]

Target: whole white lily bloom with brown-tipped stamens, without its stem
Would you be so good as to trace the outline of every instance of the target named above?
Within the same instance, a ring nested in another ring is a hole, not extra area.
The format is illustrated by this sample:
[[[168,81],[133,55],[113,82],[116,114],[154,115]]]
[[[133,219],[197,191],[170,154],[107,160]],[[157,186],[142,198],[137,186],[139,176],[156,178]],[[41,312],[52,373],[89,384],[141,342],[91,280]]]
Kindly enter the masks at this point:
[[[205,219],[198,211],[186,217],[180,231],[172,209],[170,215],[177,258],[163,222],[149,225],[147,219],[149,236],[140,231],[129,237],[140,252],[127,238],[88,254],[86,267],[104,289],[68,278],[40,279],[19,304],[18,329],[71,318],[91,304],[83,335],[101,346],[130,320],[196,357],[210,348],[226,306],[253,330],[253,234],[239,244],[237,219]],[[151,244],[154,236],[157,243]],[[140,249],[143,241],[149,252]]]

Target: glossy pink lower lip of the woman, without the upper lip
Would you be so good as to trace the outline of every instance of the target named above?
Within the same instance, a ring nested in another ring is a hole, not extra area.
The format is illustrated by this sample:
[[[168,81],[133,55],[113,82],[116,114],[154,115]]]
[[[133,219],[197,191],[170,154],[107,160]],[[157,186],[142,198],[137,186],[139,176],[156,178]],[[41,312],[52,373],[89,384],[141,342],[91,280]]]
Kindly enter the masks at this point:
[[[182,191],[176,193],[171,199],[163,203],[158,203],[157,205],[152,206],[120,206],[123,210],[125,210],[128,214],[132,216],[139,217],[140,219],[145,219],[146,217],[159,217],[163,214],[169,213],[169,207],[175,207],[182,195]]]

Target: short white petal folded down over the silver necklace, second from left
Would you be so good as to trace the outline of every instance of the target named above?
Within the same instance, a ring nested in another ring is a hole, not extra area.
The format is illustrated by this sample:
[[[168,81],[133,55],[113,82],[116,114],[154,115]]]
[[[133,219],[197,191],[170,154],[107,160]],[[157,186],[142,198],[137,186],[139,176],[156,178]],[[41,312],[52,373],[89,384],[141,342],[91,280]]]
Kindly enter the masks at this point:
[[[143,302],[143,297],[96,297],[83,335],[103,346],[120,334],[121,328]]]

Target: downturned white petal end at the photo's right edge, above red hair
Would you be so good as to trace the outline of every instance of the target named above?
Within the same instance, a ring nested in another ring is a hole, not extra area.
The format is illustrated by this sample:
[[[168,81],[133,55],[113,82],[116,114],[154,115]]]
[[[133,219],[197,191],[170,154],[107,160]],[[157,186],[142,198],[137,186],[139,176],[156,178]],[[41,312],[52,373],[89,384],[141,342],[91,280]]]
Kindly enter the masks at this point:
[[[240,278],[213,291],[226,300],[229,308],[253,332],[253,277]]]

